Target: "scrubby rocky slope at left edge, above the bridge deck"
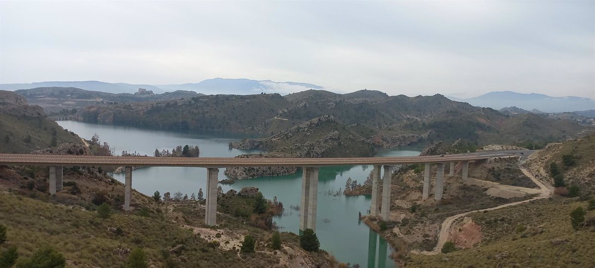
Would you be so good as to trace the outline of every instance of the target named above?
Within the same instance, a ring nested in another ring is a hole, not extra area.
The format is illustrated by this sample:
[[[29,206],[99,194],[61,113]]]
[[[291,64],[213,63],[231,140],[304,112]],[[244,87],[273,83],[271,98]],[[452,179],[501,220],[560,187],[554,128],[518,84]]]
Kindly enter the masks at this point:
[[[61,143],[83,144],[79,136],[49,119],[39,106],[0,90],[0,153],[31,153]]]

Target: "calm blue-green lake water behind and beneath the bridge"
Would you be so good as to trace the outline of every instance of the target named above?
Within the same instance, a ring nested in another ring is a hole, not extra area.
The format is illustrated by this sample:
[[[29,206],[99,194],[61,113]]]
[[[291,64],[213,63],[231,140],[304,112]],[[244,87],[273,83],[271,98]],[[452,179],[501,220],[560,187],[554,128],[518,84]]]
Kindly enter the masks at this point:
[[[258,150],[228,149],[230,141],[239,141],[243,136],[223,134],[177,133],[146,130],[115,125],[98,125],[77,121],[58,121],[63,128],[90,140],[97,133],[100,140],[109,143],[119,155],[123,150],[152,156],[155,149],[171,151],[178,145],[199,146],[201,156],[233,157],[243,153],[258,153]],[[390,150],[377,156],[417,156],[418,150]],[[364,183],[372,166],[333,166],[320,169],[318,182],[317,235],[321,248],[333,254],[344,263],[358,263],[361,267],[395,267],[390,258],[392,248],[358,219],[358,213],[366,214],[371,196],[346,197],[333,195],[345,188],[347,178]],[[219,179],[226,179],[220,169]],[[124,182],[124,174],[112,175]],[[206,185],[205,168],[150,167],[133,171],[132,187],[140,193],[152,196],[177,191],[183,194],[198,193]],[[290,206],[299,206],[302,188],[302,172],[284,176],[237,180],[231,185],[221,184],[224,193],[230,189],[239,191],[243,187],[259,188],[265,197],[283,202],[283,215],[274,217],[280,231],[299,233],[299,211]]]

